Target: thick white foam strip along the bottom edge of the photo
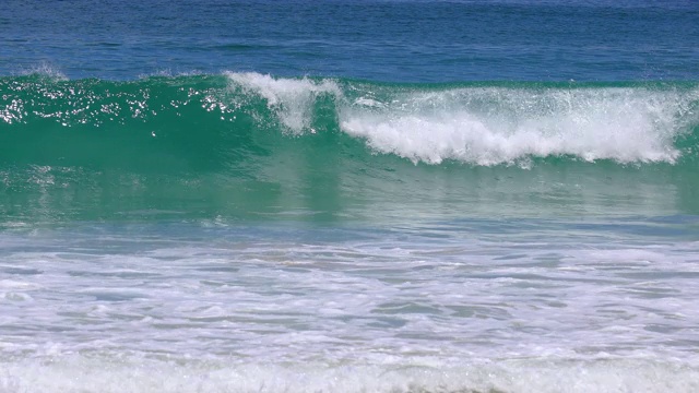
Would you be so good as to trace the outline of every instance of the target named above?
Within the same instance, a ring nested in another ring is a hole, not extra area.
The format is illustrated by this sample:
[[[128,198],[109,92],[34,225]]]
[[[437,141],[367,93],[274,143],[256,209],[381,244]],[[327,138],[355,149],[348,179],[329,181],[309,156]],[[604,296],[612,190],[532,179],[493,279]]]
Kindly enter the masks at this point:
[[[66,355],[0,364],[15,392],[694,392],[699,370],[651,359],[305,365]]]

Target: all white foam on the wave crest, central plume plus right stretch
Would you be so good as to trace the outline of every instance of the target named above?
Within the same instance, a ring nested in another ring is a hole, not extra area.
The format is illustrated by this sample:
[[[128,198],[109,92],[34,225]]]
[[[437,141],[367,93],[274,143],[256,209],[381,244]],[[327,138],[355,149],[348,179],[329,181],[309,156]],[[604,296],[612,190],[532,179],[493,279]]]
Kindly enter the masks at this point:
[[[675,140],[699,119],[699,91],[650,87],[461,87],[411,90],[333,80],[226,74],[263,97],[295,134],[310,130],[322,94],[340,128],[378,153],[414,163],[523,164],[532,157],[675,163]],[[358,96],[357,96],[358,95]]]

